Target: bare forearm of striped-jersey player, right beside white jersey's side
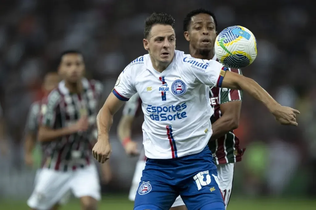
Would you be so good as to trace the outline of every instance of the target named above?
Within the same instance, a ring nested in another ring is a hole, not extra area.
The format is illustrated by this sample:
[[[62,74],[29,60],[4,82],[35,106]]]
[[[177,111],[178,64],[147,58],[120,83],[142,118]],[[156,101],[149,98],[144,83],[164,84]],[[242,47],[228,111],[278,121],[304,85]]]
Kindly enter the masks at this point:
[[[237,127],[238,124],[231,120],[230,117],[226,117],[225,115],[223,115],[221,118],[219,118],[212,124],[213,134],[210,140],[218,139],[226,133],[228,133],[229,131],[236,129]]]

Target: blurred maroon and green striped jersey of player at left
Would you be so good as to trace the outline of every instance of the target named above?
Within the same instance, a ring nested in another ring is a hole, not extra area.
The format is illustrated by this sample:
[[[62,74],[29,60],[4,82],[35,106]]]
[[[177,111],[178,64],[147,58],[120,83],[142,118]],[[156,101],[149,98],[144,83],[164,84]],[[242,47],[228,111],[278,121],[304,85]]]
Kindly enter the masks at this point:
[[[41,107],[41,125],[60,129],[76,123],[81,115],[87,115],[89,129],[65,135],[47,142],[43,151],[43,167],[58,171],[76,170],[92,162],[92,144],[96,140],[96,116],[102,94],[102,84],[82,79],[83,91],[70,93],[64,81],[47,97]]]

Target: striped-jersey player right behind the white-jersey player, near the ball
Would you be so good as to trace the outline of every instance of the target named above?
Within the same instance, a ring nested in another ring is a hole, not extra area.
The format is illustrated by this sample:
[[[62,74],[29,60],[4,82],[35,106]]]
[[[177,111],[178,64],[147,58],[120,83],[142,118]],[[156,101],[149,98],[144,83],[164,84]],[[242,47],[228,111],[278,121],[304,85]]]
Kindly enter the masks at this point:
[[[217,60],[214,52],[216,28],[216,17],[208,10],[196,9],[186,15],[183,30],[192,57]],[[242,74],[240,69],[228,70]],[[233,132],[238,128],[241,100],[241,90],[210,87],[210,105],[214,114],[211,116],[213,134],[208,145],[217,165],[226,208],[232,191],[234,165],[241,161],[244,152]]]

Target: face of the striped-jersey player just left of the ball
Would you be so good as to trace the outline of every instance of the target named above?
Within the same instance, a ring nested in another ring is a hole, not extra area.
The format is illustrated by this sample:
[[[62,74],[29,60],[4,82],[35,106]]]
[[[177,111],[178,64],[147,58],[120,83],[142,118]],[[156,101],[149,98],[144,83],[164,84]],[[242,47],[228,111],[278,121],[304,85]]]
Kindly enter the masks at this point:
[[[191,18],[185,39],[199,51],[212,51],[216,40],[215,22],[209,14],[197,14]]]

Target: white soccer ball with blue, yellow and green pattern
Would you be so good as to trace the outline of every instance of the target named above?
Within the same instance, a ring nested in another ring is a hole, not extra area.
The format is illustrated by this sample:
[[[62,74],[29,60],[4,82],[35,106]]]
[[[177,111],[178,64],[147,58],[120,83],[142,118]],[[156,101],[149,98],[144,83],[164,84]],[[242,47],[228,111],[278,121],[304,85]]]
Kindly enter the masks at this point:
[[[257,40],[242,26],[230,26],[216,37],[215,54],[219,62],[229,68],[241,69],[257,57]]]

